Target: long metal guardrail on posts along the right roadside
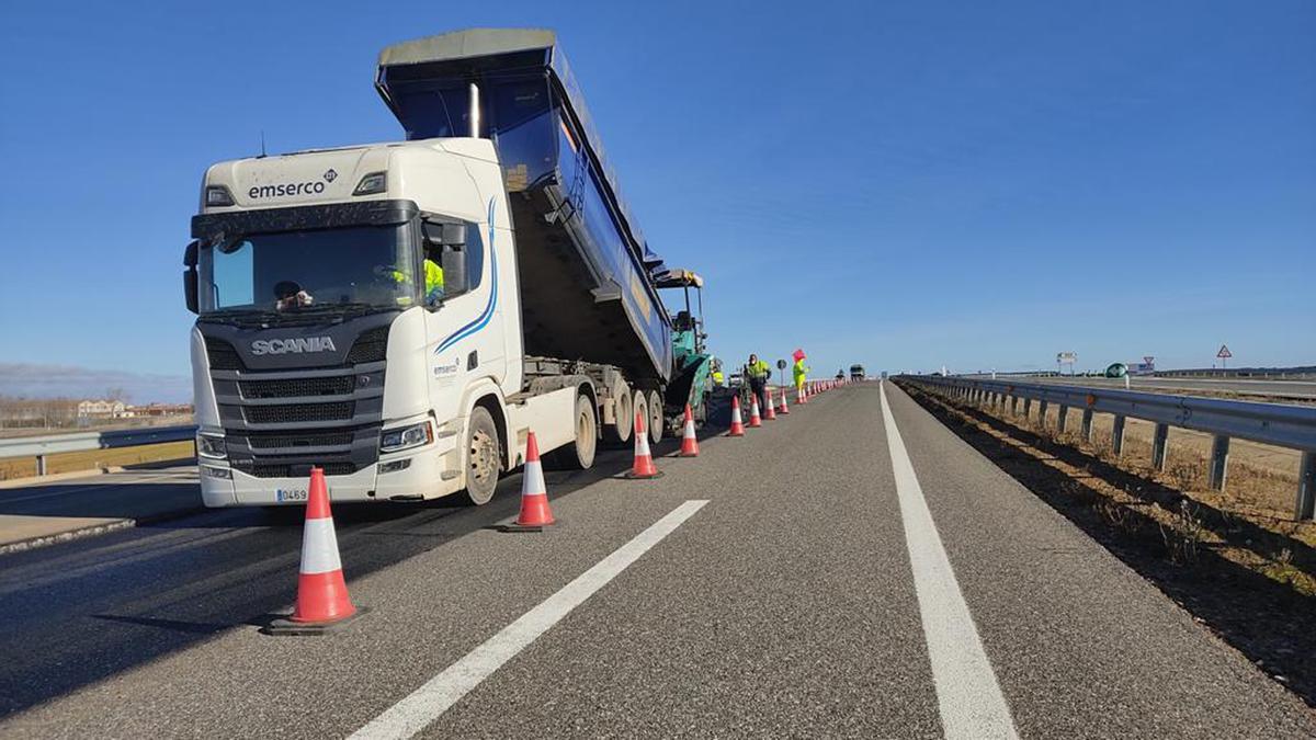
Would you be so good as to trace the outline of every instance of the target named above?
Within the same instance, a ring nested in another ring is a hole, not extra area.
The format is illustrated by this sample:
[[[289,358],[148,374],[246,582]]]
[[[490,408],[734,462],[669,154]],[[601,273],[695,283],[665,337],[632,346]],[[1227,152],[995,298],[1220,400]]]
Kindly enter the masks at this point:
[[[1083,441],[1088,442],[1092,441],[1092,415],[1109,413],[1115,416],[1115,429],[1111,435],[1111,450],[1115,454],[1124,450],[1125,419],[1152,421],[1155,424],[1152,440],[1152,465],[1157,470],[1165,470],[1170,427],[1205,432],[1212,436],[1211,487],[1217,491],[1223,491],[1225,487],[1230,438],[1237,437],[1296,449],[1303,453],[1303,458],[1298,474],[1294,519],[1316,519],[1316,408],[1141,391],[1016,383],[1008,379],[987,381],[937,375],[899,375],[898,379],[971,403],[986,403],[1001,408],[1008,403],[1015,413],[1019,412],[1019,402],[1023,399],[1025,417],[1032,412],[1033,402],[1037,402],[1042,424],[1046,423],[1048,406],[1055,404],[1059,407],[1059,431],[1065,431],[1069,410],[1078,408],[1083,412],[1080,427]]]

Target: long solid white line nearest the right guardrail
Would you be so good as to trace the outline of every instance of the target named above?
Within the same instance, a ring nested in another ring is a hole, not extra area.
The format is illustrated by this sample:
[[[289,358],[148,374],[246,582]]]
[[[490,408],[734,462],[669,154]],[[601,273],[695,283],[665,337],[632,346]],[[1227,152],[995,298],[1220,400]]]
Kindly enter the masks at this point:
[[[891,415],[886,383],[878,391],[942,731],[951,740],[1019,737]]]

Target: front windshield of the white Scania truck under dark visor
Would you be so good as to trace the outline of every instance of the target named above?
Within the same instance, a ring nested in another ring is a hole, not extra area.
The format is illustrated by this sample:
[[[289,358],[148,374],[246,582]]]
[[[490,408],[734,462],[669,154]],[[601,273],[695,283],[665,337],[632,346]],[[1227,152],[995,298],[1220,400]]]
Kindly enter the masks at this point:
[[[200,253],[201,315],[416,304],[408,226],[242,234]]]

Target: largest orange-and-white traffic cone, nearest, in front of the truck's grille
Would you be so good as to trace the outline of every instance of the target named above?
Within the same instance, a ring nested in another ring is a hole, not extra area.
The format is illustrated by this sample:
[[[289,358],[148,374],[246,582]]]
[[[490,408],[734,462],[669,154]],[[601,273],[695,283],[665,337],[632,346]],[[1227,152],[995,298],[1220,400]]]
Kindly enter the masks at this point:
[[[329,511],[325,471],[311,469],[307,491],[307,521],[301,529],[301,566],[297,569],[297,603],[292,616],[274,620],[268,635],[317,635],[355,616],[338,558],[338,537]]]

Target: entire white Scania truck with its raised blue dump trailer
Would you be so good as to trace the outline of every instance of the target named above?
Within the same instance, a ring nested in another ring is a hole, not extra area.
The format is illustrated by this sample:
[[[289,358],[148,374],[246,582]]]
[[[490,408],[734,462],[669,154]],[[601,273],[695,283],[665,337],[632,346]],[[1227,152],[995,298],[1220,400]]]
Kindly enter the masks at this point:
[[[399,43],[375,84],[407,141],[205,174],[184,288],[207,506],[301,502],[312,466],[334,500],[484,503],[530,429],[588,467],[637,411],[657,441],[701,406],[701,283],[647,250],[551,32]]]

